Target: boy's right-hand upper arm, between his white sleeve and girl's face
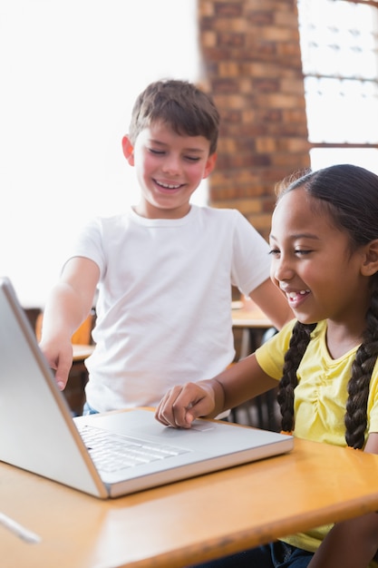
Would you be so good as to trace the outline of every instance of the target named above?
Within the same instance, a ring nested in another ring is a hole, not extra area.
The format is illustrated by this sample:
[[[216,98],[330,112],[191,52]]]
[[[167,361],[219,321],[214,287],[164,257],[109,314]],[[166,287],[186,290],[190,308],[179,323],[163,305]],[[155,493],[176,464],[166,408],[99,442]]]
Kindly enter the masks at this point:
[[[271,279],[265,280],[260,286],[252,290],[249,298],[265,313],[272,325],[281,329],[290,319],[295,316],[287,303],[286,297]]]

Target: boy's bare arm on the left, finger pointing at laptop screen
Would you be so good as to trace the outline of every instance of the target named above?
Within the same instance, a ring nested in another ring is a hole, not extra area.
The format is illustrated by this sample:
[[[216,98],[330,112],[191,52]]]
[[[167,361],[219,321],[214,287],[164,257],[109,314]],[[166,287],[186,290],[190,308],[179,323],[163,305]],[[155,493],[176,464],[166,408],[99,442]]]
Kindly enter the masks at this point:
[[[40,347],[62,389],[73,364],[71,338],[91,311],[99,277],[100,269],[92,260],[69,260],[44,308]]]

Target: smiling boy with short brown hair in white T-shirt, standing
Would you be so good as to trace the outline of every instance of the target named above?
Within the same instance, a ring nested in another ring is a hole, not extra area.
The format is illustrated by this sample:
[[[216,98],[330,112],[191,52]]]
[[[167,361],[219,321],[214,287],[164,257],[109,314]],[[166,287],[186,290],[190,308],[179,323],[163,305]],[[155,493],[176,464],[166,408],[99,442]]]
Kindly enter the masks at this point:
[[[214,103],[191,83],[151,83],[137,98],[122,149],[140,200],[88,224],[44,310],[41,348],[63,388],[71,337],[98,291],[88,412],[157,406],[171,386],[227,367],[231,284],[277,328],[290,318],[266,241],[238,211],[189,203],[214,169],[218,125]]]

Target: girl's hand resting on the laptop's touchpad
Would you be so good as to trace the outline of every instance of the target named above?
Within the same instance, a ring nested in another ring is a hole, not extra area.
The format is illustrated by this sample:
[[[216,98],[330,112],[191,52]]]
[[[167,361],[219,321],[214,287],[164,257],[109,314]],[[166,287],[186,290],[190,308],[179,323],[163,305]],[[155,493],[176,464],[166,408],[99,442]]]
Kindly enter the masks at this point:
[[[210,415],[215,408],[214,391],[200,383],[172,387],[160,401],[155,418],[164,426],[189,428],[199,416]]]

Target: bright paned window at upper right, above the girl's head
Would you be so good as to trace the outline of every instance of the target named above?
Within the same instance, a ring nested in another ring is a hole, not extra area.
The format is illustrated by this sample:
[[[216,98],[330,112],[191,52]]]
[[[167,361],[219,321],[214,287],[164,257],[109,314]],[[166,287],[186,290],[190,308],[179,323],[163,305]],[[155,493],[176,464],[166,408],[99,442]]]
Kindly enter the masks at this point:
[[[378,3],[297,6],[311,165],[353,162],[378,173]]]

